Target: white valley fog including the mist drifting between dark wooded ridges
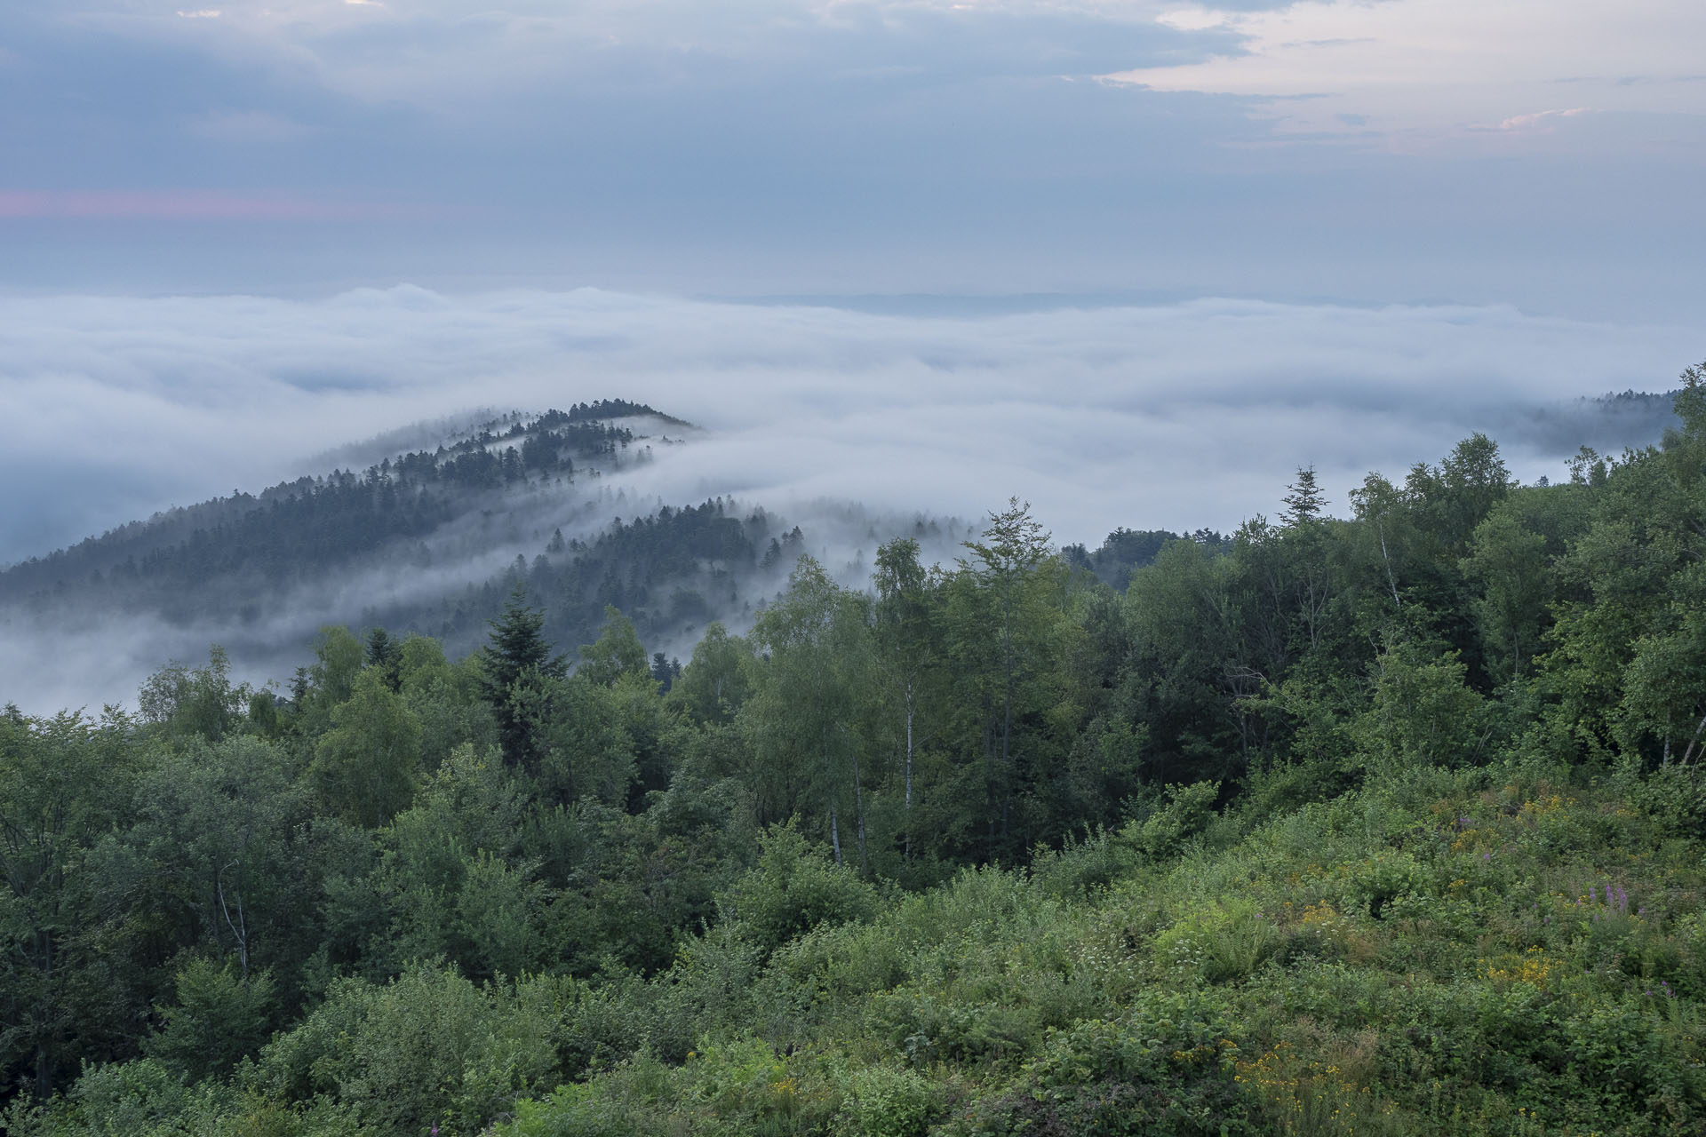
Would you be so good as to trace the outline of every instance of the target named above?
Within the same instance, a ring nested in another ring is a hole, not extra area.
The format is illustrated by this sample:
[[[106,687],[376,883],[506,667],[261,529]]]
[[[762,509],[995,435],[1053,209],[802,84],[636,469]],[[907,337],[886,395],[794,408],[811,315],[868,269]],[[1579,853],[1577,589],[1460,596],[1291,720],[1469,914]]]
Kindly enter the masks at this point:
[[[408,286],[321,302],[19,300],[0,317],[20,411],[0,424],[0,467],[31,488],[0,532],[14,563],[232,486],[360,472],[490,416],[619,397],[665,418],[636,423],[633,445],[566,486],[461,498],[421,540],[302,580],[223,581],[249,590],[241,600],[121,607],[89,585],[92,566],[68,581],[72,605],[19,605],[31,588],[14,586],[5,697],[125,702],[150,670],[212,643],[244,678],[283,682],[322,624],[401,620],[466,651],[496,609],[490,593],[553,534],[589,542],[618,518],[713,499],[766,518],[751,527],[759,554],[798,525],[802,551],[862,585],[879,542],[928,523],[930,559],[949,563],[1010,496],[1059,544],[1095,549],[1121,527],[1230,532],[1274,513],[1302,465],[1343,515],[1368,470],[1399,476],[1472,431],[1518,477],[1556,479],[1581,445],[1658,440],[1667,399],[1599,395],[1663,390],[1686,339],[1512,309],[1237,300],[952,315]],[[679,655],[708,619],[749,624],[786,568],[708,600],[705,581],[676,581],[691,597],[676,615],[648,597],[648,648]],[[479,588],[459,619],[428,617]]]

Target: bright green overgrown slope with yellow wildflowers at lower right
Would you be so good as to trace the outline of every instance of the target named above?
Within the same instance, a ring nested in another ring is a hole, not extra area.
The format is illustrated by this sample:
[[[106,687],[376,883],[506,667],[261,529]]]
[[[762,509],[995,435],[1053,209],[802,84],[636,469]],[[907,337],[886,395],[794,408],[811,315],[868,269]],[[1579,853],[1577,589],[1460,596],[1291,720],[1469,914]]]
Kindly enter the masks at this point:
[[[969,871],[768,961],[737,919],[636,992],[638,1057],[502,1132],[1697,1134],[1699,798],[1428,771],[1165,861],[1128,828]]]

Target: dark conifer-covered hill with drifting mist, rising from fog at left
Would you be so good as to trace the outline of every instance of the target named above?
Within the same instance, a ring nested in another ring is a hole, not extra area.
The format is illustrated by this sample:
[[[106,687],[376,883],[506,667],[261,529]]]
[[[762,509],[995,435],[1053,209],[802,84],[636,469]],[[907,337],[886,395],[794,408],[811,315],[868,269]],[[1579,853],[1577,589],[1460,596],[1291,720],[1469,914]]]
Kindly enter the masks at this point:
[[[701,436],[621,399],[500,416],[360,472],[237,491],[14,564],[0,571],[0,627],[14,644],[104,634],[89,649],[135,687],[160,655],[208,641],[242,673],[288,670],[324,624],[432,634],[461,656],[525,581],[565,643],[595,636],[616,603],[648,639],[686,649],[706,620],[749,622],[807,547],[841,571],[901,528],[942,547],[964,535],[950,518],[817,506],[802,518],[809,539],[727,496],[676,505],[640,488]],[[68,687],[75,675],[49,685]],[[87,680],[82,692],[70,697],[89,697]]]

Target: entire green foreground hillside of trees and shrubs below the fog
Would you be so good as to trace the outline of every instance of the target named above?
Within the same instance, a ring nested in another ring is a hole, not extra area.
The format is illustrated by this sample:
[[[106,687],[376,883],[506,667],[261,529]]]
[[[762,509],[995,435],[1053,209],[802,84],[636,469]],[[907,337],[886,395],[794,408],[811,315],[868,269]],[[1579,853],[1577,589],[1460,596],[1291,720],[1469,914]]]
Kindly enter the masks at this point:
[[[1148,563],[1012,501],[853,588],[682,510],[616,540],[788,578],[679,670],[553,634],[594,564],[461,660],[9,709],[7,1132],[1703,1132],[1706,372],[1675,411]]]

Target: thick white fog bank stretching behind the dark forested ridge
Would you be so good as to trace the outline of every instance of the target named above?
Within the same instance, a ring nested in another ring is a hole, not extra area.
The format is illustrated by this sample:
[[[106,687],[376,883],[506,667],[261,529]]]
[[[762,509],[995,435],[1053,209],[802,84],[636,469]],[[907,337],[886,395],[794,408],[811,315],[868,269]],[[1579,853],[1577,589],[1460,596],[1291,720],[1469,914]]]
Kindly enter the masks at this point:
[[[667,455],[653,438],[660,460],[621,474],[633,499],[735,494],[781,511],[851,499],[978,518],[1018,496],[1056,540],[1094,547],[1116,525],[1225,530],[1273,513],[1302,464],[1343,510],[1370,469],[1401,476],[1472,430],[1501,440],[1520,477],[1558,477],[1573,447],[1530,430],[1534,407],[1665,390],[1699,355],[1684,327],[1505,307],[894,315],[411,286],[322,302],[12,298],[0,309],[0,563],[324,470],[304,455],[360,464],[351,443],[411,423],[601,397],[705,428]],[[416,433],[387,443],[416,445]],[[0,699],[99,704],[130,697],[169,656],[205,658],[206,638],[186,648],[142,620],[85,634],[87,653],[61,643],[48,675],[41,644],[14,626]]]

